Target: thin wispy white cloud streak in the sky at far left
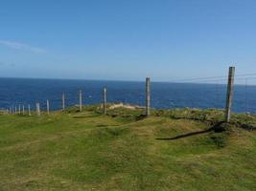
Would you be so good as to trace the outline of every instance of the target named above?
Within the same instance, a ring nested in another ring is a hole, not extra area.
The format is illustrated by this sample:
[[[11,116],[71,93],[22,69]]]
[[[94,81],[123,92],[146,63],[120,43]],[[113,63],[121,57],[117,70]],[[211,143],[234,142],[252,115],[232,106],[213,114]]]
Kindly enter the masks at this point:
[[[12,42],[6,40],[0,40],[0,46],[9,47],[11,49],[20,50],[20,51],[27,51],[31,53],[45,53],[45,50],[37,47],[33,47],[24,43],[20,42]]]

